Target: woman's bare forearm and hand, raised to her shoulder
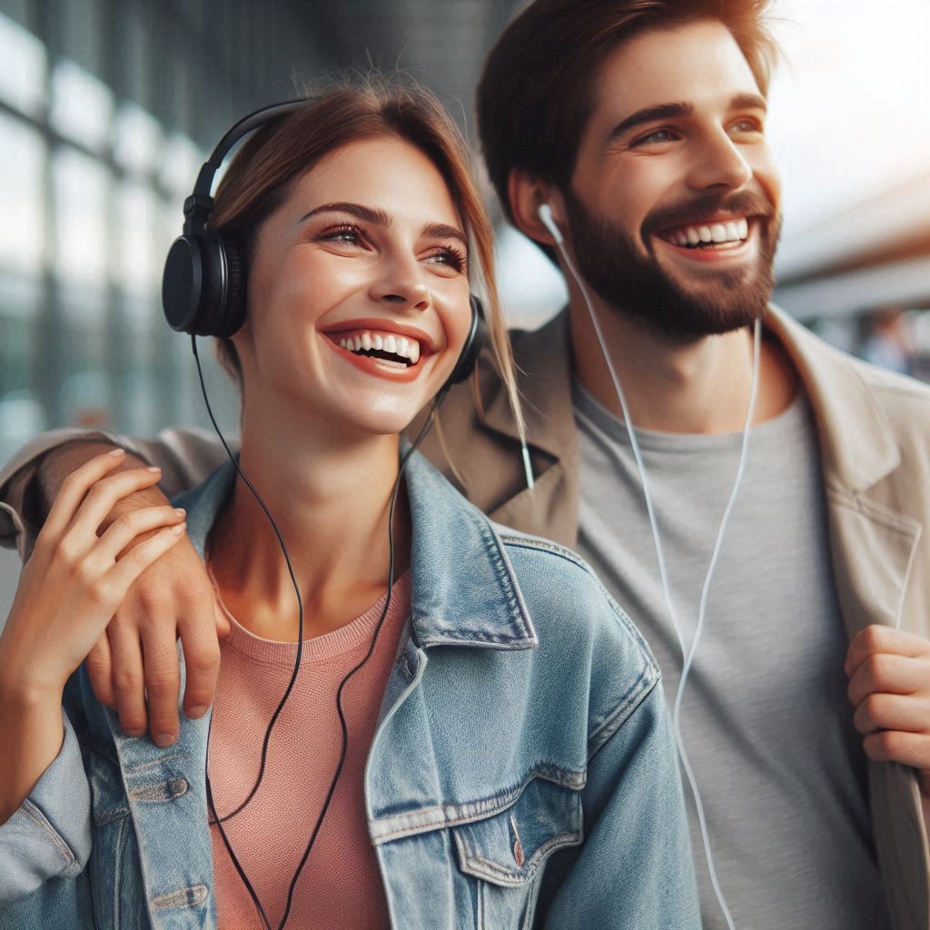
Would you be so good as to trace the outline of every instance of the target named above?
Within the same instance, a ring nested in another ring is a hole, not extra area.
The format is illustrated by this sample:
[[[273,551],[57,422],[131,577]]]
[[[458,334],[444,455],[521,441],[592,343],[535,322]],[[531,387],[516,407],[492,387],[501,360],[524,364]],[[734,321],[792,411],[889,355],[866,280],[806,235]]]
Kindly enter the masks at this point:
[[[68,677],[132,582],[181,538],[184,513],[172,507],[126,513],[100,532],[117,501],[158,481],[157,470],[113,473],[124,458],[92,458],[61,485],[0,635],[0,824],[59,754]]]

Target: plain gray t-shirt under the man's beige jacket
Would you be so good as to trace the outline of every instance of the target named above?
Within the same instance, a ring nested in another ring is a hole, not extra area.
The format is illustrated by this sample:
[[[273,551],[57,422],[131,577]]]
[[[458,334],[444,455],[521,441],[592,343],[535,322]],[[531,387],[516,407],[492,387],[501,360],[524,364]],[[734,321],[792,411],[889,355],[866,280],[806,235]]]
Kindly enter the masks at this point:
[[[622,420],[578,383],[578,551],[643,631],[671,703],[682,653]],[[637,431],[671,597],[690,644],[741,433]],[[865,759],[843,671],[826,504],[804,393],[753,428],[682,708],[711,851],[737,930],[889,926]],[[725,928],[685,784],[704,925]]]

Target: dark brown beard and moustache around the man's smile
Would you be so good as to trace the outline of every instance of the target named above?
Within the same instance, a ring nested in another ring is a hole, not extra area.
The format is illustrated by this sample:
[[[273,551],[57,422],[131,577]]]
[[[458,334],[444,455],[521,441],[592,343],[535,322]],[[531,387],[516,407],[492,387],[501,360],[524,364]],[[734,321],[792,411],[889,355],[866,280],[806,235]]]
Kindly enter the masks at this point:
[[[644,254],[631,236],[607,217],[595,216],[574,192],[565,191],[564,197],[579,272],[601,299],[634,321],[674,341],[690,341],[750,326],[768,306],[781,221],[760,194],[705,194],[650,214],[642,226],[647,244],[650,231],[700,225],[721,211],[755,218],[751,235],[757,237],[758,252],[751,263],[722,269],[695,262],[690,275],[666,271],[651,247]]]

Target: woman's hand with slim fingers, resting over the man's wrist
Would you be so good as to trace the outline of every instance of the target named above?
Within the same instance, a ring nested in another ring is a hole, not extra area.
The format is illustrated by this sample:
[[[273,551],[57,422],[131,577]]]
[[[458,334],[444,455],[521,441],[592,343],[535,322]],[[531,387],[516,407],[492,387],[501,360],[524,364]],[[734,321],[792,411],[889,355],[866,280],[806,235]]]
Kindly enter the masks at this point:
[[[112,474],[124,455],[120,449],[91,458],[61,485],[0,636],[0,684],[7,694],[26,689],[60,701],[68,676],[130,585],[182,538],[184,512],[167,506],[126,513],[98,535],[118,500],[151,487],[160,475],[157,469]]]

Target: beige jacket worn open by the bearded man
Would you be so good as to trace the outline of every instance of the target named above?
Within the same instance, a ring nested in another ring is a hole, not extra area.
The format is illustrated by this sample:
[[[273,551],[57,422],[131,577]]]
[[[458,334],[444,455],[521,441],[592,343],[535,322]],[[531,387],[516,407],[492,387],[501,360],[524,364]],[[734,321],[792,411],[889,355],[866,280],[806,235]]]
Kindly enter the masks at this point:
[[[768,330],[804,382],[820,439],[834,575],[850,638],[871,623],[930,637],[930,390],[837,352],[773,309]],[[423,451],[500,523],[574,546],[578,538],[578,443],[571,405],[567,315],[516,333],[536,487],[526,489],[506,392],[488,365],[481,403],[471,385],[442,411],[445,450],[433,431]],[[21,516],[33,459],[73,432],[40,437],[0,472],[0,542],[27,546]],[[222,460],[206,433],[166,432],[127,447],[165,470],[175,492]],[[451,470],[449,459],[455,462]],[[930,847],[917,781],[898,764],[869,765],[879,865],[896,930],[930,930]]]

